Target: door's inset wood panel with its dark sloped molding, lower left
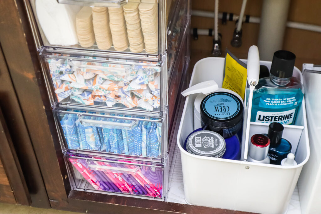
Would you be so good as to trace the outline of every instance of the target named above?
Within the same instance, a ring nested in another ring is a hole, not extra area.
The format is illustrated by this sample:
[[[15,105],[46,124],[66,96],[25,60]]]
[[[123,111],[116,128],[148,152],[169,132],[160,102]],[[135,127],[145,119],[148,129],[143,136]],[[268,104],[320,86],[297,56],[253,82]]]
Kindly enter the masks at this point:
[[[0,109],[0,201],[30,205],[26,181]]]

